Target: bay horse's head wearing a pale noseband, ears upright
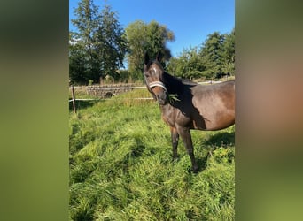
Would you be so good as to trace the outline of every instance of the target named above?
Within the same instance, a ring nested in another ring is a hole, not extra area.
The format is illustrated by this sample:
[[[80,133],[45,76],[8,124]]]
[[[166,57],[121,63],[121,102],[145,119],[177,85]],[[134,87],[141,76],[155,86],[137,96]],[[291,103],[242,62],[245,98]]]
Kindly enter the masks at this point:
[[[160,105],[167,104],[167,88],[162,82],[163,73],[164,69],[159,63],[159,57],[150,61],[148,54],[145,53],[144,80],[148,91]]]

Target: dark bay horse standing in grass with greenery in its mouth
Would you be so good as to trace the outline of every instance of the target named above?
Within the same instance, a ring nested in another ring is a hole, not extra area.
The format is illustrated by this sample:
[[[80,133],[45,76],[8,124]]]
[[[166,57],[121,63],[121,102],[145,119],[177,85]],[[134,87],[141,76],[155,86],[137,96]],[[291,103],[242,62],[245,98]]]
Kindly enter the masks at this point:
[[[179,135],[190,156],[192,171],[198,165],[192,147],[190,129],[215,131],[235,124],[235,80],[200,85],[165,72],[159,57],[144,58],[147,89],[159,103],[162,119],[170,126],[173,159],[177,158]]]

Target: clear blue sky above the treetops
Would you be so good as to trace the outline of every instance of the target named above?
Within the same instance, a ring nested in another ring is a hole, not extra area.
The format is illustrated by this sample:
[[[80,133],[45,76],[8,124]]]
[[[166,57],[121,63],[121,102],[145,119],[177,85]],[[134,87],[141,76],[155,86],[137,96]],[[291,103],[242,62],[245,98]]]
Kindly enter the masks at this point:
[[[69,1],[69,19],[74,19],[78,0]],[[104,0],[94,0],[101,9]],[[235,27],[235,0],[107,0],[117,11],[120,25],[128,25],[138,19],[145,23],[156,20],[175,34],[175,42],[167,47],[174,57],[183,49],[200,46],[207,34],[215,31],[229,33]],[[74,30],[69,22],[70,30]]]

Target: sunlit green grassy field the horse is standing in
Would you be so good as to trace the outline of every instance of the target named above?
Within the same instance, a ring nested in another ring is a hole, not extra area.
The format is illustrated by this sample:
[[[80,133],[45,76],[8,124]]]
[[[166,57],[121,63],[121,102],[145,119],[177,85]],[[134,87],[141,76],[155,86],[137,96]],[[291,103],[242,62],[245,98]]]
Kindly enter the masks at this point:
[[[200,171],[146,90],[70,109],[71,220],[234,220],[234,132],[192,131]]]

